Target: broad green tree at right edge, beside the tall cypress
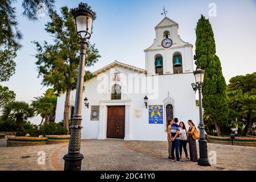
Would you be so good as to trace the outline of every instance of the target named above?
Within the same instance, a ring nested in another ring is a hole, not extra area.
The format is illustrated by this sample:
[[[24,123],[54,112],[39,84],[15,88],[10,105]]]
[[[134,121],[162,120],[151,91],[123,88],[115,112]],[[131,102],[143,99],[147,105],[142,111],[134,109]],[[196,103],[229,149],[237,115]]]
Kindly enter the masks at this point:
[[[232,77],[227,85],[230,118],[245,125],[243,134],[249,133],[256,121],[256,72]]]

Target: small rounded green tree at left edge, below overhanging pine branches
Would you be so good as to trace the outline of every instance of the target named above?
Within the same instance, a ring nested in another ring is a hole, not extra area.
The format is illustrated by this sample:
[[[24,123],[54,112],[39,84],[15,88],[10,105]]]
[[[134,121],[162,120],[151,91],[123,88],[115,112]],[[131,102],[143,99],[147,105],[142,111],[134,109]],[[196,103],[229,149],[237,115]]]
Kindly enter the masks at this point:
[[[0,109],[15,100],[15,93],[7,86],[0,85]]]

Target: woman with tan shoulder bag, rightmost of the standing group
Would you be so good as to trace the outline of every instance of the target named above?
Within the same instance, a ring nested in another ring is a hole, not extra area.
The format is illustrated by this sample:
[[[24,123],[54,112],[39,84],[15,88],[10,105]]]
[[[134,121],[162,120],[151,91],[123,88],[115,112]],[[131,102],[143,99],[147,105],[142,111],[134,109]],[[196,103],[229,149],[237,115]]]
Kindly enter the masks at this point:
[[[196,140],[193,138],[194,132],[197,132],[196,126],[192,120],[188,121],[189,130],[188,130],[188,142],[189,142],[189,154],[190,160],[193,162],[198,162],[197,158],[197,144]]]

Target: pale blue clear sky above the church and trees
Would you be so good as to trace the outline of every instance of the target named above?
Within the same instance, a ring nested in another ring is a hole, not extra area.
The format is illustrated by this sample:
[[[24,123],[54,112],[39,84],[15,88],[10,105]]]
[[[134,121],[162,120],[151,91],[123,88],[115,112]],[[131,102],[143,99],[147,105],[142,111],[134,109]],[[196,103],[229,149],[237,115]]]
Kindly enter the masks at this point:
[[[80,0],[81,1],[81,0]],[[80,1],[62,0],[56,2],[60,7],[77,7]],[[22,16],[21,0],[15,3],[18,11],[19,29],[23,34],[22,48],[15,58],[16,73],[9,82],[1,82],[16,93],[17,101],[30,102],[33,97],[41,96],[47,89],[40,85],[36,71],[35,46],[33,40],[52,42],[51,36],[44,31],[50,20],[43,16],[31,22]],[[220,57],[222,71],[228,83],[236,75],[246,75],[256,71],[256,0],[88,0],[97,13],[91,43],[99,49],[101,58],[94,67],[96,71],[104,65],[119,60],[139,68],[145,68],[144,49],[155,39],[155,26],[164,18],[162,6],[167,16],[179,24],[178,34],[182,40],[195,45],[197,20],[203,14],[212,24],[216,40],[217,55]],[[209,16],[209,4],[215,3],[217,14]],[[194,51],[194,49],[193,49]],[[37,122],[36,122],[37,123]]]

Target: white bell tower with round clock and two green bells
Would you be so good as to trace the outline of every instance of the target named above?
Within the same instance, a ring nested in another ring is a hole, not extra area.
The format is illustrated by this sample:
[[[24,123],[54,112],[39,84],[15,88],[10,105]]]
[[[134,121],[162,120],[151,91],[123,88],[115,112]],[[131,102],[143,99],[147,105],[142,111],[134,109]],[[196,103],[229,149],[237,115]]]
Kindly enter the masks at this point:
[[[144,50],[148,75],[193,72],[193,46],[178,35],[178,23],[165,16],[155,31],[152,46]]]

